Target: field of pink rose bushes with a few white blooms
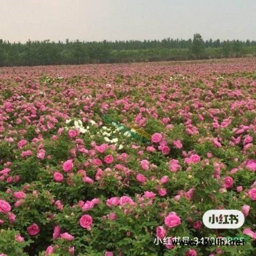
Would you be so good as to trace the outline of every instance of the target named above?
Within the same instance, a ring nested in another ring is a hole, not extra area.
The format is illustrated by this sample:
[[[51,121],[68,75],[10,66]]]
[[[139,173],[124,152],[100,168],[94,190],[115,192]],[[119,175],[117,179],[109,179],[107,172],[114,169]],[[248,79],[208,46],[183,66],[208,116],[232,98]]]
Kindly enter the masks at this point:
[[[256,255],[255,59],[0,68],[0,88],[0,255]]]

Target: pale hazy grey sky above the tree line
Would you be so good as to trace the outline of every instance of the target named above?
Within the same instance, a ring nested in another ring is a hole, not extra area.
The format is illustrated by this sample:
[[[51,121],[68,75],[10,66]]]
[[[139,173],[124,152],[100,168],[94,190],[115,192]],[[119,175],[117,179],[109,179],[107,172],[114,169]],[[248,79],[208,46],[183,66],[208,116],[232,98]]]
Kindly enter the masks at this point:
[[[0,38],[256,40],[256,0],[0,0]]]

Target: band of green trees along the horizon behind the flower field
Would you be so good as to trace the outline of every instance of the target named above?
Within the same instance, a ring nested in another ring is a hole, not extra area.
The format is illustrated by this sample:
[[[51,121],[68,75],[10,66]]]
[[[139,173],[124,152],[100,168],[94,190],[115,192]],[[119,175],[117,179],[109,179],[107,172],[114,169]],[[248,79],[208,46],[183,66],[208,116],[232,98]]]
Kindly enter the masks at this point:
[[[253,40],[193,39],[127,40],[103,42],[31,41],[22,44],[0,39],[0,67],[126,63],[256,56]]]

